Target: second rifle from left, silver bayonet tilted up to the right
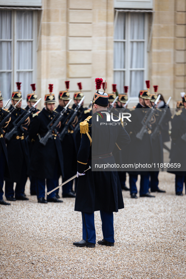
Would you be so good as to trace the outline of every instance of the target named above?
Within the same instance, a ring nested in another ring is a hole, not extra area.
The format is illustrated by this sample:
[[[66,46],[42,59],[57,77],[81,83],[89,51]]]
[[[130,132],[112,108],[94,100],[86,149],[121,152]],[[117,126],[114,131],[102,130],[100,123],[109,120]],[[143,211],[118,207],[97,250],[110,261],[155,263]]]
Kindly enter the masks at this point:
[[[23,127],[21,126],[25,120],[30,116],[31,112],[35,109],[37,104],[41,101],[41,98],[25,113],[25,110],[20,114],[20,116],[13,122],[14,127],[5,135],[5,139],[8,141],[13,137],[14,134],[18,133],[18,128],[23,130]],[[17,105],[18,103],[16,103]],[[25,114],[25,115],[24,115]],[[19,121],[18,121],[19,120]],[[18,121],[18,122],[17,122]],[[17,123],[16,123],[17,122]]]

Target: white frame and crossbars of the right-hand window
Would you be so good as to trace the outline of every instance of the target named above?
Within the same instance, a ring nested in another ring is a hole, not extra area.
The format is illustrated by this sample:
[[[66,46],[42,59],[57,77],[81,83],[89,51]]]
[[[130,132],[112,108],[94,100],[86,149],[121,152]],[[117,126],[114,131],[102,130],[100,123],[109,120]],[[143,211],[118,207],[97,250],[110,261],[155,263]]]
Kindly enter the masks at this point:
[[[117,11],[116,11],[117,13]],[[114,22],[114,27],[116,28],[117,24],[117,14],[115,13],[115,22]],[[118,40],[118,39],[113,39],[113,43],[115,42],[125,42],[125,68],[123,69],[115,69],[113,68],[113,73],[115,71],[122,71],[125,72],[125,85],[129,86],[129,91],[128,91],[128,96],[130,97],[130,73],[132,70],[143,70],[144,71],[144,81],[143,81],[143,86],[146,88],[145,85],[145,80],[148,79],[148,26],[149,26],[149,18],[148,18],[148,13],[144,13],[144,39],[143,40],[131,40],[129,37],[130,34],[130,14],[131,12],[125,12],[125,11],[118,11],[118,13],[125,13],[125,39],[124,40]],[[133,11],[132,11],[133,13]],[[141,13],[141,12],[139,12]],[[114,31],[115,31],[114,28]],[[144,68],[130,68],[130,60],[131,60],[131,50],[130,50],[130,43],[131,42],[144,42]],[[144,89],[142,88],[142,89]],[[119,92],[120,94],[124,94],[123,92]],[[137,93],[138,94],[138,93]],[[131,101],[137,101],[138,96],[136,97],[130,97]]]

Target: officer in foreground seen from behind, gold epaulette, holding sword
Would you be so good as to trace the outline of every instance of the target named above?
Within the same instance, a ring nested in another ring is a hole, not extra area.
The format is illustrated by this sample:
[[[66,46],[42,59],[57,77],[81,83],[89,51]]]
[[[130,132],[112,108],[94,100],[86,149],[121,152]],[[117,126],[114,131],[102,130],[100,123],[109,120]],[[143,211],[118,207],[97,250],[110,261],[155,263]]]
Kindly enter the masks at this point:
[[[99,87],[100,88],[100,87]],[[87,170],[92,164],[114,164],[112,152],[124,148],[130,137],[122,125],[95,126],[97,111],[106,110],[108,95],[97,92],[93,97],[93,119],[88,116],[80,123],[82,133],[81,145],[77,155],[78,184],[76,190],[75,211],[82,212],[83,239],[73,244],[78,247],[95,247],[96,233],[94,226],[94,211],[99,210],[102,220],[103,240],[98,241],[101,245],[114,246],[113,212],[124,208],[121,185],[116,168],[114,171],[91,171]],[[117,117],[116,117],[117,118]],[[106,116],[102,119],[106,122]],[[113,122],[111,120],[111,122]],[[113,128],[113,129],[112,129]],[[93,139],[92,139],[93,136]],[[92,140],[101,141],[103,145],[97,145],[92,152]],[[84,171],[87,170],[86,173]]]

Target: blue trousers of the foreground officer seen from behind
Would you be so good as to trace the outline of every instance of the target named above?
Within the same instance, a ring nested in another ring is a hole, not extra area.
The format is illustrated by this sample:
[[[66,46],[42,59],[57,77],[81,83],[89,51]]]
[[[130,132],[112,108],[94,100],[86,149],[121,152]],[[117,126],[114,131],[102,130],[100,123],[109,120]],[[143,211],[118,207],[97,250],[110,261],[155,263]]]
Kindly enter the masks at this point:
[[[114,243],[114,217],[113,212],[100,210],[103,238]],[[96,231],[94,226],[94,213],[82,212],[83,240],[96,243]]]

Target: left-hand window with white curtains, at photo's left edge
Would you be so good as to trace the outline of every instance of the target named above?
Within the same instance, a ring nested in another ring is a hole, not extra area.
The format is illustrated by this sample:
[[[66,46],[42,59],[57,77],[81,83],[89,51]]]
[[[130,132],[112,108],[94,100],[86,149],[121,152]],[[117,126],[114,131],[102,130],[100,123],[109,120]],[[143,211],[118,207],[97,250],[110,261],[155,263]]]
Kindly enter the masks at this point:
[[[22,83],[26,99],[36,80],[36,18],[30,10],[0,11],[0,90],[6,100],[17,90],[15,82]]]

